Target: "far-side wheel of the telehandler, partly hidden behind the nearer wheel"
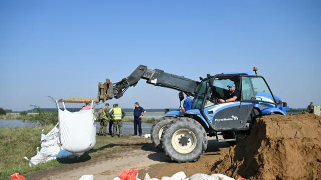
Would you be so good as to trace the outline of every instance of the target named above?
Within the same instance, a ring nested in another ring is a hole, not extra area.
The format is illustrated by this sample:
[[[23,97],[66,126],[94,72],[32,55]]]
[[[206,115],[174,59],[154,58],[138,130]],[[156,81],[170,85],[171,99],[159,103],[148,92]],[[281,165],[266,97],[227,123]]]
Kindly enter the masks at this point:
[[[161,144],[161,137],[162,137],[164,128],[175,119],[176,118],[172,116],[161,117],[158,120],[156,120],[154,124],[151,126],[150,138],[154,146],[157,147],[158,149],[163,150],[162,144]]]

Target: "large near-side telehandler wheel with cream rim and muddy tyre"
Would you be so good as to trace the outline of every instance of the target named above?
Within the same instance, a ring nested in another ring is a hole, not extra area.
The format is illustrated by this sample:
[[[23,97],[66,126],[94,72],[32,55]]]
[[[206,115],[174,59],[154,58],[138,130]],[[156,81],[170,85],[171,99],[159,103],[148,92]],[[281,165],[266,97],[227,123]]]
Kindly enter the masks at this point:
[[[207,148],[207,134],[195,119],[180,117],[170,122],[163,131],[163,149],[172,160],[195,162]]]

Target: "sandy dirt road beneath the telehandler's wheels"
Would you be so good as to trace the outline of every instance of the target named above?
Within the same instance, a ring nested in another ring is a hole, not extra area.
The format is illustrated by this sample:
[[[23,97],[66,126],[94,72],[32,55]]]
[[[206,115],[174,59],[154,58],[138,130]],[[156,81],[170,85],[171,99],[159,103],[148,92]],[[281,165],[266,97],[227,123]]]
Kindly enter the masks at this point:
[[[128,145],[116,152],[101,153],[99,156],[88,157],[88,160],[67,164],[49,170],[28,174],[27,179],[37,180],[78,180],[84,174],[93,174],[95,180],[113,179],[127,168],[138,168],[138,177],[143,179],[146,172],[150,177],[172,176],[178,171],[184,171],[187,176],[195,173],[210,173],[213,164],[224,158],[229,144],[216,142],[211,138],[205,154],[194,163],[176,163],[164,152],[154,148],[152,143]]]

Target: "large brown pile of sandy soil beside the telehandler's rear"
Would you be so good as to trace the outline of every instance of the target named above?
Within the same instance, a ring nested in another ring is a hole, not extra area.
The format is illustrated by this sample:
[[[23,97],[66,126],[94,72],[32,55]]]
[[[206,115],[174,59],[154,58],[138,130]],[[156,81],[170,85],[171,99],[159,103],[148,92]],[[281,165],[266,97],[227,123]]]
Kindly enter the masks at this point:
[[[214,173],[247,179],[321,179],[321,117],[269,115],[230,148]]]

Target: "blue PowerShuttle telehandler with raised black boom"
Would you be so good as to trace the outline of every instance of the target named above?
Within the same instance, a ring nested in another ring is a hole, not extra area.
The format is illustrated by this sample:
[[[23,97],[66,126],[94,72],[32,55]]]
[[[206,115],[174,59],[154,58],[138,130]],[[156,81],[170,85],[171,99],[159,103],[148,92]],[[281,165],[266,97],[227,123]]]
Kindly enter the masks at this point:
[[[98,102],[120,98],[129,86],[139,79],[146,83],[179,90],[180,102],[185,95],[193,96],[190,110],[167,111],[151,127],[153,144],[165,151],[173,161],[197,161],[205,152],[208,136],[218,141],[234,144],[250,134],[255,118],[263,115],[286,115],[286,102],[273,95],[263,76],[253,71],[206,74],[200,81],[148,69],[139,65],[129,76],[112,83],[110,79],[98,83]],[[229,96],[228,84],[234,83],[239,99],[221,103],[219,99]],[[223,137],[219,138],[221,135]]]

